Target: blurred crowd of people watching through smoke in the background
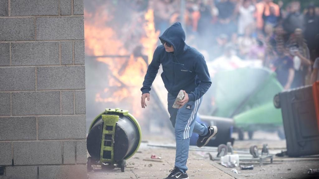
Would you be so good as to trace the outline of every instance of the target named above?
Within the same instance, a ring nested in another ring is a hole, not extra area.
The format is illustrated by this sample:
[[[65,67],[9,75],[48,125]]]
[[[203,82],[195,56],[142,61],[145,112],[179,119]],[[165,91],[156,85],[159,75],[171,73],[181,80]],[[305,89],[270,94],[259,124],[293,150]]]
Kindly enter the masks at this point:
[[[311,2],[301,9],[294,0],[189,0],[184,10],[181,1],[154,2],[156,29],[184,22],[187,44],[200,49],[212,72],[260,64],[285,89],[318,80],[319,7]]]

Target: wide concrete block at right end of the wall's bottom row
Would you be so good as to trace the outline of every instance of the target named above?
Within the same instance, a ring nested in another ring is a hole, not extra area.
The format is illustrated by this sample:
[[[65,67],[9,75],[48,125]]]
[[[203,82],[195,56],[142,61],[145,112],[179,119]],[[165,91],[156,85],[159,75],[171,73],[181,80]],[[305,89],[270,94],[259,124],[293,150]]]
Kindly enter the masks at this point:
[[[86,165],[39,166],[39,179],[87,179]]]

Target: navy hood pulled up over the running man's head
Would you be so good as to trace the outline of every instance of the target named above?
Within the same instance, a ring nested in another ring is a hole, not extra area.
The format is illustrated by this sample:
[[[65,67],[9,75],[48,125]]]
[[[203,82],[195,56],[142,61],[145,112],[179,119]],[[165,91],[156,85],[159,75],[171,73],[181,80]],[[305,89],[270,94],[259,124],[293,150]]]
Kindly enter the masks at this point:
[[[159,37],[160,40],[167,41],[174,47],[174,55],[182,54],[185,44],[185,32],[180,22],[176,22],[168,27],[164,33]]]

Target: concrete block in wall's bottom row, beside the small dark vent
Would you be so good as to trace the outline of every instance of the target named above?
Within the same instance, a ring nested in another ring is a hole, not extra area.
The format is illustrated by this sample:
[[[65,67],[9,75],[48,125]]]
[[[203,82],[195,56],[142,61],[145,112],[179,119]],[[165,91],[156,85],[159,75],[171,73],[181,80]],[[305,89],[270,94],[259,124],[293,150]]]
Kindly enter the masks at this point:
[[[5,179],[26,179],[37,178],[38,167],[37,166],[6,166]],[[1,178],[1,176],[0,176]]]

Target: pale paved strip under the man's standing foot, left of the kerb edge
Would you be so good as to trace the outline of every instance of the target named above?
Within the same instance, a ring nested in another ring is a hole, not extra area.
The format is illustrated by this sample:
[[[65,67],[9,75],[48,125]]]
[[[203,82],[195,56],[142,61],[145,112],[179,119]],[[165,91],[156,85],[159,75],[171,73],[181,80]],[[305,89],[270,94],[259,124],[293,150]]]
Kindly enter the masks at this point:
[[[150,159],[155,154],[162,157],[161,160],[144,161]],[[127,161],[127,168],[124,173],[121,169],[111,171],[103,171],[100,167],[95,167],[93,172],[89,172],[90,179],[161,179],[167,177],[169,170],[174,168],[175,150],[161,148],[144,148],[139,150],[132,159]],[[188,161],[189,178],[216,178],[216,179],[232,179],[231,175],[226,174],[220,169],[213,167],[209,160],[205,160],[195,151],[189,153]]]

